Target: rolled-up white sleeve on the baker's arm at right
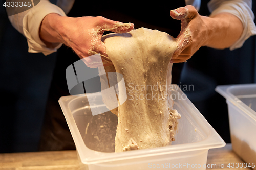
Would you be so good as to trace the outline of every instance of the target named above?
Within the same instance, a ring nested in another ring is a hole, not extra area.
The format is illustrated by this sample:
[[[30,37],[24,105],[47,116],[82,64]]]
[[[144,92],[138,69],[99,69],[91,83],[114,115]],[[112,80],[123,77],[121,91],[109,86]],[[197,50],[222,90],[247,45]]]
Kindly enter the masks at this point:
[[[214,16],[222,12],[227,12],[237,16],[243,23],[243,33],[239,40],[230,46],[230,50],[240,48],[243,46],[245,40],[247,40],[252,35],[256,35],[256,27],[255,23],[253,22],[254,14],[251,10],[251,7],[251,0],[211,0],[208,3],[208,8],[211,12],[210,16]]]

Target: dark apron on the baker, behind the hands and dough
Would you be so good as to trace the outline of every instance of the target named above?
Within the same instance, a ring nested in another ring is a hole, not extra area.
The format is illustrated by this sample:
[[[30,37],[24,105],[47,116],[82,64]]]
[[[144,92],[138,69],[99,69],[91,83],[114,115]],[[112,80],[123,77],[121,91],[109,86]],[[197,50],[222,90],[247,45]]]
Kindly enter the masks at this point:
[[[76,0],[68,16],[103,16],[115,21],[132,22],[135,24],[135,29],[140,27],[157,29],[176,38],[180,32],[181,21],[172,19],[169,13],[172,9],[184,7],[185,1],[153,2],[133,6],[130,3],[120,4],[120,1],[95,3]],[[75,150],[73,138],[58,100],[61,96],[70,95],[65,72],[70,64],[79,59],[70,48],[64,45],[57,52],[56,66],[49,91],[44,125],[42,126],[40,151]],[[179,83],[182,66],[183,64],[173,65],[172,83]]]

